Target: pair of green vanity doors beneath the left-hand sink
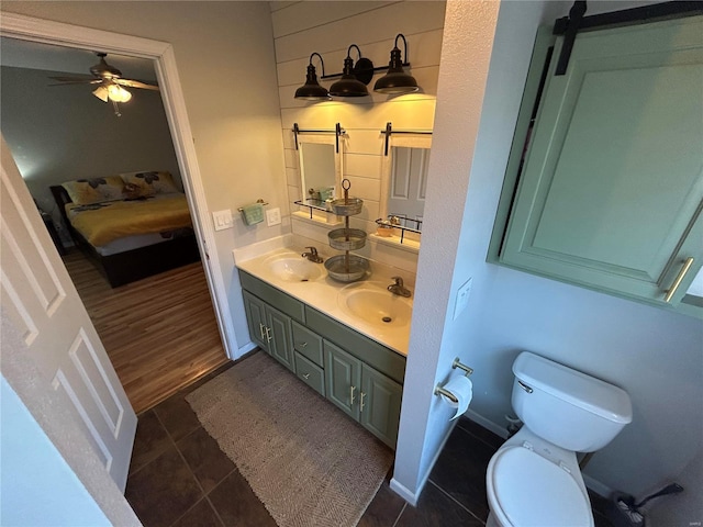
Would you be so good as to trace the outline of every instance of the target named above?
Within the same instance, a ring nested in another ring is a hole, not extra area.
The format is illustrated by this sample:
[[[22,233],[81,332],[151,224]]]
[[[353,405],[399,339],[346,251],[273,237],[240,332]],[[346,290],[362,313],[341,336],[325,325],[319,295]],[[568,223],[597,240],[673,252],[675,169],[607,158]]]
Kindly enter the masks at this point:
[[[261,349],[290,371],[295,371],[290,316],[243,291],[249,335]]]

